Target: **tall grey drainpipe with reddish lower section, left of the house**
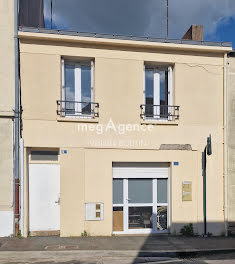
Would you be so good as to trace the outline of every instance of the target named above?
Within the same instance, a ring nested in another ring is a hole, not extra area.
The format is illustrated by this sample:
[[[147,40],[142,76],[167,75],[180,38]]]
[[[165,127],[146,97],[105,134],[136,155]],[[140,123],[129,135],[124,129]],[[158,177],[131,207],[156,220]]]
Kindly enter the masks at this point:
[[[18,0],[14,0],[14,46],[15,46],[15,146],[14,146],[14,223],[15,234],[19,233],[19,43],[18,43]]]

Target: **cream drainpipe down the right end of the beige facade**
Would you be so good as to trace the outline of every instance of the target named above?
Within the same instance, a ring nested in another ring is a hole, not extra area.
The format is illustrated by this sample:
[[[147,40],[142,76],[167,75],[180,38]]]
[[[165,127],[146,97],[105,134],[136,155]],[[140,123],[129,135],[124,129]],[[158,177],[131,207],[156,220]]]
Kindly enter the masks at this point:
[[[227,87],[228,56],[224,54],[224,229],[228,236],[228,87]]]

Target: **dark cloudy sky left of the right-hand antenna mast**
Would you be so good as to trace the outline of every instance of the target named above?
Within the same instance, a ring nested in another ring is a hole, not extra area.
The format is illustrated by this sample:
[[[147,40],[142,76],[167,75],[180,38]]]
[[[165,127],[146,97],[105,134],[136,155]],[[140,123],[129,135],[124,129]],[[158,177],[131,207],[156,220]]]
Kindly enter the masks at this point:
[[[50,3],[44,0],[49,28]],[[166,0],[52,0],[52,29],[165,38]]]

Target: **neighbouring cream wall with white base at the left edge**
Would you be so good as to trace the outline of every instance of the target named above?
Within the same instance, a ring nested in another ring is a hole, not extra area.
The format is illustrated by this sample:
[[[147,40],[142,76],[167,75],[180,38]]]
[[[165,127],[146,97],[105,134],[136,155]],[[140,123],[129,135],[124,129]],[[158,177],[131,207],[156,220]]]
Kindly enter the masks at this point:
[[[0,237],[13,234],[14,0],[0,1]]]

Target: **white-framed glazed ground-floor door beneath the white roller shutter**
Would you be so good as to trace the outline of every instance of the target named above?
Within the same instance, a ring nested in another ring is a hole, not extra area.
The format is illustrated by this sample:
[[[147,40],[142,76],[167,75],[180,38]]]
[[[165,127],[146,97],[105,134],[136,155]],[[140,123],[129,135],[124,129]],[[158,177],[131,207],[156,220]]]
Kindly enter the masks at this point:
[[[113,179],[113,231],[168,228],[168,179]]]

